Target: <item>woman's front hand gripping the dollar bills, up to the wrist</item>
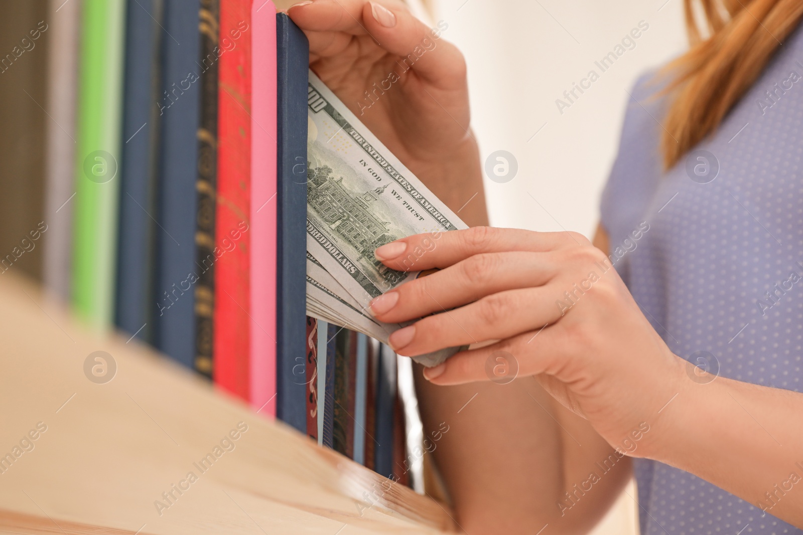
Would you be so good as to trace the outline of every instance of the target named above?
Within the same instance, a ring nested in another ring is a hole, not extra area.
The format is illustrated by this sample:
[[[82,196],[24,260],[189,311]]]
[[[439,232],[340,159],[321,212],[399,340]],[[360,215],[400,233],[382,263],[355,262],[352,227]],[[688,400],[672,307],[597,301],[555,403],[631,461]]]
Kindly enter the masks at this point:
[[[397,270],[441,269],[373,300],[384,322],[424,316],[390,336],[397,353],[498,340],[426,370],[432,383],[504,379],[495,377],[499,364],[517,367],[614,448],[642,436],[639,426],[653,424],[687,383],[685,361],[581,234],[476,227],[407,237],[376,254]]]

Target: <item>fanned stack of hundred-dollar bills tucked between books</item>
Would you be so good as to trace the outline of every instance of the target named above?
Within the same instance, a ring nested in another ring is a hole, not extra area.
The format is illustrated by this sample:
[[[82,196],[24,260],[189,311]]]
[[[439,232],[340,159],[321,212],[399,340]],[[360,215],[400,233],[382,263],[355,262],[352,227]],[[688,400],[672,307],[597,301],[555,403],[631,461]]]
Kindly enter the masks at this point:
[[[307,314],[387,342],[404,325],[373,318],[371,299],[422,276],[416,264],[441,234],[467,225],[312,71],[308,113]],[[374,256],[380,245],[418,233],[430,237],[406,252],[409,271],[391,270]],[[415,359],[435,366],[455,351]]]

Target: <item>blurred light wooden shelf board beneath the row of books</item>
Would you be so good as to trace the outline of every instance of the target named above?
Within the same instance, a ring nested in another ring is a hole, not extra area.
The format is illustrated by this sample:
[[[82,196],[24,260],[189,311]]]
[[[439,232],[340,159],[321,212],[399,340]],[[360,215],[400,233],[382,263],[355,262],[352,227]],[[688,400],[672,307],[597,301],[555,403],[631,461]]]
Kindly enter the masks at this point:
[[[85,330],[30,282],[4,274],[0,303],[0,456],[22,452],[0,464],[0,531],[454,531],[446,505],[255,414],[135,340]],[[108,383],[85,375],[94,351],[116,363]],[[30,440],[39,422],[47,431]]]

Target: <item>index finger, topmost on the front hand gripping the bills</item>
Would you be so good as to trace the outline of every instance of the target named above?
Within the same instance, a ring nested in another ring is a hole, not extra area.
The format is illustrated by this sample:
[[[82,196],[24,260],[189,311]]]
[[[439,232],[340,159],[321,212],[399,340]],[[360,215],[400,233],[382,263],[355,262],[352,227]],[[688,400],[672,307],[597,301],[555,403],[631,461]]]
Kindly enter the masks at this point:
[[[480,253],[546,252],[572,245],[590,246],[582,234],[539,233],[523,229],[472,227],[465,230],[415,234],[382,245],[374,253],[393,270],[445,268]]]

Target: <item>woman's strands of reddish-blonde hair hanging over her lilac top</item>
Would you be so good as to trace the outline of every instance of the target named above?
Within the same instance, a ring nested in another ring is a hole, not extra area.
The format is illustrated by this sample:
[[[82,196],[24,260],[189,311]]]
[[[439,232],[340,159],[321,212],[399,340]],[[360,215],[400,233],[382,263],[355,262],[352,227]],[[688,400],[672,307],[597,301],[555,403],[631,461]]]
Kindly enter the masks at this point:
[[[667,169],[716,131],[800,22],[803,0],[684,0],[684,10],[691,49],[662,70],[672,79],[661,140]]]

